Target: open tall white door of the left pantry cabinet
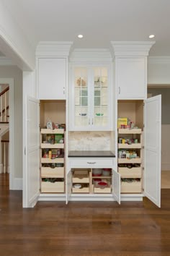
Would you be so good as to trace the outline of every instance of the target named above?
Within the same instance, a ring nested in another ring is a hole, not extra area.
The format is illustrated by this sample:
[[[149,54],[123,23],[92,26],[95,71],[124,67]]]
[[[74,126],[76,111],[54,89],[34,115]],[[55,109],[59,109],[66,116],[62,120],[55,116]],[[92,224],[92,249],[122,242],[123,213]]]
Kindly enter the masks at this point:
[[[34,207],[40,195],[40,104],[27,98],[26,106],[26,169],[23,173],[23,207]]]

